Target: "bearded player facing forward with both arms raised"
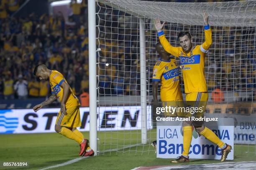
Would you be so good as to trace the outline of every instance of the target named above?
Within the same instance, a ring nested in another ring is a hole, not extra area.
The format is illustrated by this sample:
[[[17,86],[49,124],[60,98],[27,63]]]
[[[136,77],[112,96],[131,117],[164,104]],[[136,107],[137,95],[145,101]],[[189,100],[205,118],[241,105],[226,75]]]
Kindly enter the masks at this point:
[[[205,42],[202,45],[195,46],[192,41],[192,37],[189,32],[179,32],[178,38],[181,47],[173,47],[170,45],[166,37],[164,36],[164,23],[161,24],[159,18],[155,20],[155,27],[158,32],[158,36],[164,50],[179,57],[180,65],[182,68],[182,74],[185,85],[186,101],[195,101],[195,103],[205,103],[204,108],[208,100],[207,85],[204,76],[205,68],[205,53],[212,44],[212,32],[208,24],[208,15],[203,12],[204,28],[205,28]],[[202,112],[203,114],[203,112]],[[201,115],[202,116],[202,115]],[[171,161],[172,163],[184,163],[189,162],[189,148],[192,140],[192,125],[194,125],[197,133],[200,133],[212,143],[218,145],[221,149],[221,161],[225,161],[228,153],[232,149],[230,145],[223,143],[212,130],[205,127],[203,122],[183,122],[183,152],[177,159]]]

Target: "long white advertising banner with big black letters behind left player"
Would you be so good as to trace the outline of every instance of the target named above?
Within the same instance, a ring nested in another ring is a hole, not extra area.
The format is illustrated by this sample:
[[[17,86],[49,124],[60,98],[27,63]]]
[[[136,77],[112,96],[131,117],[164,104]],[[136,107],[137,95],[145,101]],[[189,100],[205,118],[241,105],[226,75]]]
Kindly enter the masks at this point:
[[[0,133],[50,133],[55,132],[54,125],[59,108],[0,110]],[[107,130],[139,130],[141,129],[141,107],[100,107],[97,114],[97,127]],[[80,108],[81,131],[90,130],[89,107]],[[151,125],[151,106],[147,106],[147,128]]]

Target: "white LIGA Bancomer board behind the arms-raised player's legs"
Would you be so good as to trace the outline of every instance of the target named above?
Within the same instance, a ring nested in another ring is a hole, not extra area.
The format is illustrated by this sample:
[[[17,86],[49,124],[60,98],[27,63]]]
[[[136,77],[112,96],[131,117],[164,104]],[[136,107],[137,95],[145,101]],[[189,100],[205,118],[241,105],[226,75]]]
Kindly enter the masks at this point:
[[[234,127],[218,126],[212,131],[224,143],[234,146]],[[157,158],[177,158],[183,150],[182,126],[157,126]],[[200,136],[193,128],[192,142],[189,150],[189,158],[220,160],[221,150],[204,136]],[[233,160],[233,153],[228,154],[227,160]]]

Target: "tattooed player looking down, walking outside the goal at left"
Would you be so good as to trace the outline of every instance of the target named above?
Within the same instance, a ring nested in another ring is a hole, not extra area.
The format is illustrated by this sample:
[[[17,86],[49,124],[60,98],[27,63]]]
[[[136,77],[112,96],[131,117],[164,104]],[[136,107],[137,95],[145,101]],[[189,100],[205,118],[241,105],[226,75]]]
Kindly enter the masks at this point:
[[[58,113],[55,131],[69,139],[75,140],[80,145],[79,156],[93,156],[94,151],[88,145],[88,140],[77,130],[81,126],[79,100],[74,95],[64,76],[55,70],[49,70],[46,65],[37,65],[34,75],[40,80],[49,80],[52,95],[44,102],[33,107],[37,112],[42,107],[54,102],[57,98],[61,101],[61,110]]]

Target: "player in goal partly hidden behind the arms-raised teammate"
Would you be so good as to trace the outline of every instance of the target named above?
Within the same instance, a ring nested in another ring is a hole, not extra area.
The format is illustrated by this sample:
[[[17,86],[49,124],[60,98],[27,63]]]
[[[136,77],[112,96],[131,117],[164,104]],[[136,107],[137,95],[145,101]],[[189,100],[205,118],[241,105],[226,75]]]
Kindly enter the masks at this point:
[[[156,51],[159,53],[160,58],[153,68],[153,105],[158,103],[157,89],[159,82],[161,82],[160,96],[163,107],[173,104],[176,106],[176,103],[172,101],[183,101],[179,85],[179,67],[176,60],[170,58],[170,54],[164,50],[160,42],[156,44]],[[172,115],[169,112],[165,112],[165,116]],[[156,141],[153,141],[152,145],[156,149]]]

